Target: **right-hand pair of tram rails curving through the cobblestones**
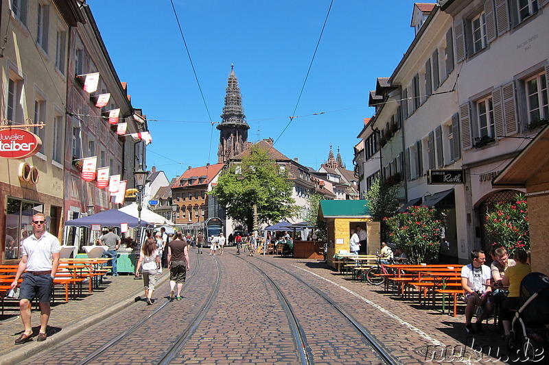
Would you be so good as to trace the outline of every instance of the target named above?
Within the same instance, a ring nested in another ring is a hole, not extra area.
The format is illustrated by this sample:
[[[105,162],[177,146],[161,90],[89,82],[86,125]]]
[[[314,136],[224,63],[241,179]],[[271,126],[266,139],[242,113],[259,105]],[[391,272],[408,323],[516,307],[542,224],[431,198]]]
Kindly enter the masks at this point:
[[[272,281],[272,279],[270,279],[268,274],[262,268],[259,268],[259,266],[251,263],[248,260],[245,260],[243,257],[240,257],[240,258],[242,260],[244,260],[245,262],[248,262],[248,264],[254,266],[261,273],[261,275],[264,275],[264,277],[268,278],[268,281],[270,281],[270,283],[272,283],[273,286],[277,287],[277,289],[276,289],[277,292],[280,292],[280,295],[282,295],[284,297],[285,303],[288,303],[289,310],[292,312],[291,316],[293,318],[295,318],[292,306],[290,305],[290,303],[289,303],[288,299],[286,298],[285,294],[283,294],[283,292],[280,290],[279,286],[276,283],[274,283],[274,281]],[[259,260],[261,262],[264,262],[265,264],[269,264],[270,266],[272,266],[274,268],[277,268],[277,269],[283,271],[284,273],[292,276],[294,279],[299,281],[301,284],[303,284],[304,286],[306,286],[307,288],[309,288],[310,290],[312,290],[313,292],[318,294],[319,297],[321,297],[326,303],[328,303],[338,313],[340,313],[340,315],[345,320],[347,320],[347,322],[350,323],[352,325],[352,327],[356,331],[358,331],[358,333],[360,333],[360,336],[362,336],[362,338],[364,338],[364,340],[366,340],[366,342],[372,347],[373,351],[375,351],[375,353],[377,353],[377,355],[379,355],[379,357],[384,361],[385,364],[388,364],[388,365],[400,364],[400,362],[397,359],[395,359],[395,357],[393,357],[393,355],[391,355],[391,353],[388,351],[388,349],[386,349],[386,347],[384,346],[384,344],[382,344],[382,342],[377,340],[377,338],[375,338],[375,336],[373,336],[370,333],[370,331],[368,331],[368,329],[366,329],[366,327],[364,327],[358,320],[353,318],[353,316],[351,316],[351,314],[349,314],[346,310],[344,310],[344,308],[341,305],[338,305],[338,303],[331,300],[327,296],[327,294],[325,294],[322,290],[319,290],[315,286],[312,286],[311,284],[307,283],[307,281],[301,279],[301,277],[299,277],[298,275],[292,273],[291,271],[286,270],[285,268],[281,268],[281,267],[279,267],[275,264],[272,264],[272,262],[269,262],[268,260],[261,259],[260,257],[257,257],[257,260]],[[300,332],[303,335],[303,339],[300,338],[300,340],[298,342],[307,343],[307,338],[305,337],[305,333],[304,333],[303,329],[301,329]],[[296,347],[296,348],[298,350],[300,349],[299,347]],[[314,364],[314,358],[312,357],[312,355],[310,355],[310,353],[311,353],[310,348],[309,348],[308,352],[309,352],[309,357],[307,358],[308,362],[306,364]]]

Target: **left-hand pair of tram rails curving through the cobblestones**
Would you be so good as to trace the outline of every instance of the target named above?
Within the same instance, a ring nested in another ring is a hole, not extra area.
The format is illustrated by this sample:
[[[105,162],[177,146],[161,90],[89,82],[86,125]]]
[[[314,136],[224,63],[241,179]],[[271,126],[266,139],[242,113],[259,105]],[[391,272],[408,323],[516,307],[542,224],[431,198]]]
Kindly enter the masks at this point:
[[[183,290],[187,288],[193,281],[196,280],[196,277],[198,276],[198,272],[200,270],[200,262],[202,259],[198,258],[196,261],[196,267],[194,268],[193,275],[185,282],[185,285],[183,286]],[[205,303],[202,304],[200,307],[200,310],[198,310],[198,314],[194,316],[189,321],[189,324],[183,330],[176,338],[174,343],[170,345],[170,347],[163,351],[164,355],[158,362],[152,362],[155,364],[170,364],[173,357],[180,351],[180,349],[185,345],[185,342],[191,338],[191,336],[195,333],[198,325],[204,318],[205,314],[207,314],[208,310],[210,309],[211,305],[213,304],[213,301],[215,301],[215,297],[218,294],[220,282],[221,282],[221,268],[220,264],[218,263],[218,260],[215,260],[215,257],[213,258],[213,261],[215,263],[216,268],[216,278],[215,282],[213,284],[213,289],[209,292],[209,295],[205,301]],[[93,351],[93,353],[87,355],[83,360],[80,360],[78,362],[78,365],[84,365],[84,364],[91,364],[92,362],[96,362],[100,355],[102,355],[107,349],[110,349],[111,347],[115,346],[116,344],[119,344],[122,340],[125,340],[129,338],[130,336],[134,336],[134,334],[145,325],[145,323],[148,323],[148,321],[151,320],[151,318],[154,318],[157,314],[160,314],[163,312],[165,307],[167,307],[168,304],[170,304],[170,299],[167,299],[164,303],[162,303],[158,308],[156,308],[152,313],[148,314],[148,316],[145,316],[141,320],[139,320],[135,325],[132,325],[129,329],[126,329],[126,331],[123,331],[122,333],[119,333],[118,336],[115,336],[114,338],[110,339],[108,342],[106,342],[100,349],[97,349]]]

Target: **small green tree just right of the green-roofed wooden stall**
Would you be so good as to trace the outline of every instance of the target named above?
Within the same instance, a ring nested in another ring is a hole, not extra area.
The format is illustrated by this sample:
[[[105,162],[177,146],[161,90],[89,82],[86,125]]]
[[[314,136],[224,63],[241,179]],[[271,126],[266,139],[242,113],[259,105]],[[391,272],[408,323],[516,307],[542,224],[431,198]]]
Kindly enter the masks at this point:
[[[366,192],[366,201],[373,217],[380,221],[382,240],[388,239],[387,225],[383,218],[394,216],[399,210],[399,199],[397,198],[397,186],[386,184],[379,176],[372,181],[372,185]]]

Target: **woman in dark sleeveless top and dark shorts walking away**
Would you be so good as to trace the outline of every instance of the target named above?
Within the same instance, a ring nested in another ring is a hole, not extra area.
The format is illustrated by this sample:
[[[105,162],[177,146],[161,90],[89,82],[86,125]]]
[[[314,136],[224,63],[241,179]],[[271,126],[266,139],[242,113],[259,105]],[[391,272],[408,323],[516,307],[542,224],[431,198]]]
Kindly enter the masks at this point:
[[[187,271],[191,270],[189,263],[189,243],[183,238],[183,232],[176,231],[174,240],[167,245],[167,267],[170,270],[170,301],[174,300],[177,284],[177,300],[181,297],[181,290],[187,278]]]

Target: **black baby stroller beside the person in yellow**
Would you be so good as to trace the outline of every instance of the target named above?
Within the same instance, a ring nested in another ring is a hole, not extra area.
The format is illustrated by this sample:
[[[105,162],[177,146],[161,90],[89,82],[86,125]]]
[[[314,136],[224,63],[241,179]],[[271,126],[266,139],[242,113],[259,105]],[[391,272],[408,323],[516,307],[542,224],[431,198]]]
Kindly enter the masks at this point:
[[[549,350],[549,277],[530,273],[520,282],[524,303],[515,313],[506,338],[509,350],[521,349],[530,360]]]

